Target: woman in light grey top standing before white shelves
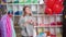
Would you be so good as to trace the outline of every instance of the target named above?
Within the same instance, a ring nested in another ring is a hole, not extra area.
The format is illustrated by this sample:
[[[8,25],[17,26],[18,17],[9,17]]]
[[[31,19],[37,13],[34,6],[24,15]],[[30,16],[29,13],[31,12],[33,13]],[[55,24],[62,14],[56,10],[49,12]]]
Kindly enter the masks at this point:
[[[23,8],[23,16],[20,17],[20,27],[21,27],[21,35],[22,37],[33,37],[33,25],[34,18],[32,17],[31,10],[28,5]]]

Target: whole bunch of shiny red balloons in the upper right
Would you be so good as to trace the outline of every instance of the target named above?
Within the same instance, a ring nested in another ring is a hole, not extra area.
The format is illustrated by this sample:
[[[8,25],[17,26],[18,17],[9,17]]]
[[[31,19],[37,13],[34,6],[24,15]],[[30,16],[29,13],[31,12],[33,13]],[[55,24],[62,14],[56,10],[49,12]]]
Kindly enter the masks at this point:
[[[44,2],[46,4],[46,14],[59,14],[64,9],[64,0],[45,0]]]

